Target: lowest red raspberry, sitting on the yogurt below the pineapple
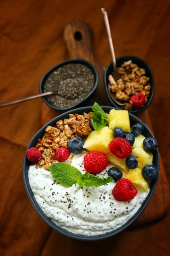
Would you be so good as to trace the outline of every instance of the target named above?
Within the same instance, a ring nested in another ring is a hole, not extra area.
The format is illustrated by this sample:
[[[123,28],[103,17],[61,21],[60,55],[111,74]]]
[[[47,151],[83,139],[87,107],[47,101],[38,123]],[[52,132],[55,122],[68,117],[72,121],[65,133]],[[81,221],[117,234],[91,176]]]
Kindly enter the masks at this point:
[[[118,201],[128,201],[137,195],[137,189],[130,180],[122,178],[117,181],[112,194]]]

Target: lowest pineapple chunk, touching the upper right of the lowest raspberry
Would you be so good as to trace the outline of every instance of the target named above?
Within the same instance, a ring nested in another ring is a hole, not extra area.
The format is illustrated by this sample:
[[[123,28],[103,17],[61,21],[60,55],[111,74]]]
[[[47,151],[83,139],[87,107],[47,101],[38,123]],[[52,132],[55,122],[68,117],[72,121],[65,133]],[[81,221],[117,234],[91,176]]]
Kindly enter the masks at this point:
[[[129,170],[128,173],[125,175],[125,178],[130,180],[135,187],[139,187],[144,189],[144,191],[148,191],[149,189],[149,182],[146,181],[142,175],[142,170],[137,167],[133,170]]]

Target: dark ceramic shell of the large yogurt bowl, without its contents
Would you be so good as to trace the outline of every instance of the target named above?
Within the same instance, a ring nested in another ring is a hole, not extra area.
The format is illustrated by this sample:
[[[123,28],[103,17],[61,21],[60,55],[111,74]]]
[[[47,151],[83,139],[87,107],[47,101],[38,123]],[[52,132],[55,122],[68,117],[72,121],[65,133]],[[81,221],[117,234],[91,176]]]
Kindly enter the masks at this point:
[[[109,112],[112,107],[108,107],[108,106],[102,106],[103,110],[105,112]],[[55,122],[60,120],[60,119],[65,119],[68,118],[68,114],[69,113],[77,113],[77,114],[83,114],[83,112],[90,112],[91,111],[91,107],[85,107],[85,108],[77,108],[68,112],[63,113],[62,115],[59,115],[58,117],[55,117],[54,119],[52,119],[51,121],[49,121],[45,126],[43,126],[31,139],[28,147],[26,150],[28,150],[31,147],[35,147],[37,141],[39,138],[42,138],[44,135],[44,130],[47,126],[54,126]],[[137,117],[135,117],[134,115],[130,114],[130,125],[132,126],[133,124],[139,122],[142,123]],[[144,124],[144,132],[142,132],[142,134],[146,137],[151,136],[153,137],[152,132],[150,131],[150,129]],[[65,236],[68,236],[70,238],[76,239],[76,240],[86,240],[86,241],[95,241],[95,240],[102,240],[105,238],[109,238],[111,236],[114,236],[115,234],[123,231],[124,229],[126,229],[128,226],[130,226],[132,224],[132,222],[134,222],[137,217],[144,211],[144,209],[146,208],[147,204],[149,203],[150,199],[152,198],[152,195],[155,191],[156,185],[157,185],[157,180],[154,180],[151,182],[150,184],[150,192],[146,198],[146,200],[144,201],[144,203],[141,205],[141,207],[139,208],[139,210],[135,213],[135,215],[130,218],[130,220],[128,220],[128,222],[126,222],[124,225],[122,225],[121,227],[119,227],[118,229],[115,229],[111,232],[109,232],[108,234],[104,234],[104,235],[100,235],[100,236],[83,236],[83,235],[78,235],[78,234],[73,234],[69,231],[66,231],[65,229],[62,229],[61,227],[57,226],[51,219],[49,219],[42,211],[42,209],[39,207],[38,203],[36,202],[33,192],[31,190],[30,184],[29,184],[29,177],[28,177],[28,170],[29,170],[29,166],[30,166],[30,162],[27,160],[26,155],[24,156],[24,161],[23,161],[23,168],[22,168],[22,175],[23,175],[23,182],[24,182],[24,186],[26,189],[26,193],[35,209],[35,211],[38,213],[38,215],[42,218],[42,220],[44,220],[44,222],[46,222],[47,225],[49,225],[52,229],[54,229],[55,231],[59,232],[60,234],[63,234]],[[153,164],[158,168],[159,170],[159,153],[158,150],[155,151],[154,153],[154,158],[153,158]]]

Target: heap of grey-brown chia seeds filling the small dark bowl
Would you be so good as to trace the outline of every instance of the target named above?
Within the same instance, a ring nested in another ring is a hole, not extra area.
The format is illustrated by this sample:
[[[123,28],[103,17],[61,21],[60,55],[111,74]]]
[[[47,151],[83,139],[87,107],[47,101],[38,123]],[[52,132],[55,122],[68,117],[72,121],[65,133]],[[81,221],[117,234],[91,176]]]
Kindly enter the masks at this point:
[[[67,108],[82,101],[93,89],[94,74],[80,63],[66,64],[53,71],[44,83],[44,92],[57,92],[47,100],[57,108]]]

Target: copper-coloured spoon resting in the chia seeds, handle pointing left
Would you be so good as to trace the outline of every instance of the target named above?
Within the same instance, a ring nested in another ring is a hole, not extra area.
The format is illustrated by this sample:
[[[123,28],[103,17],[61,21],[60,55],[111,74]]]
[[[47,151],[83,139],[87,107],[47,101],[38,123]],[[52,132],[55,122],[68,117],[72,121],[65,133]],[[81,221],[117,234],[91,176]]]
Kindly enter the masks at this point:
[[[10,105],[13,105],[13,104],[16,104],[16,103],[20,103],[22,101],[28,101],[30,99],[43,97],[43,96],[50,95],[50,94],[57,94],[57,92],[42,92],[42,93],[39,93],[39,94],[35,94],[35,95],[32,95],[32,96],[27,96],[27,97],[20,98],[20,99],[14,99],[12,101],[5,101],[5,102],[0,103],[0,108],[10,106]]]

